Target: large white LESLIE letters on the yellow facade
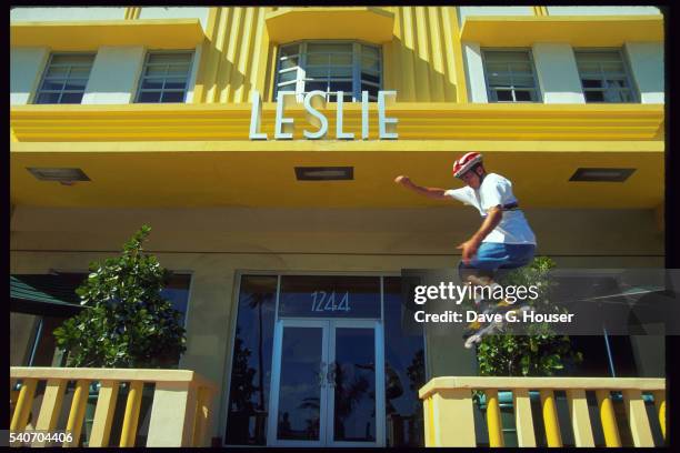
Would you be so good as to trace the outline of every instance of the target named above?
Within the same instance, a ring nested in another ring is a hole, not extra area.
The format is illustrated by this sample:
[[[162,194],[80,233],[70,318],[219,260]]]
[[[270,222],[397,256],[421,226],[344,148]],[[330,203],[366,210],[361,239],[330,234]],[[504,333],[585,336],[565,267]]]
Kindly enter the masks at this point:
[[[354,140],[353,132],[344,132],[342,124],[342,111],[343,111],[343,98],[342,91],[338,91],[338,108],[336,110],[336,139],[338,140]],[[284,97],[296,97],[292,91],[279,91],[277,94],[277,117],[274,124],[274,140],[292,140],[293,119],[286,118],[286,99]],[[378,138],[380,140],[396,140],[399,138],[397,132],[388,132],[388,125],[391,130],[397,129],[397,119],[388,118],[386,112],[386,97],[397,97],[397,91],[378,91]],[[250,114],[250,140],[267,140],[267,133],[260,132],[260,123],[262,118],[262,99],[258,91],[252,92],[252,111]],[[328,118],[321,111],[318,110],[320,105],[323,105],[326,101],[324,91],[310,91],[304,94],[303,104],[304,110],[309,113],[311,123],[309,124],[312,130],[304,129],[302,134],[309,140],[323,139],[328,134]],[[313,130],[316,127],[316,130]],[[287,130],[284,132],[283,130]],[[369,93],[368,91],[361,92],[361,140],[368,140],[369,137]]]

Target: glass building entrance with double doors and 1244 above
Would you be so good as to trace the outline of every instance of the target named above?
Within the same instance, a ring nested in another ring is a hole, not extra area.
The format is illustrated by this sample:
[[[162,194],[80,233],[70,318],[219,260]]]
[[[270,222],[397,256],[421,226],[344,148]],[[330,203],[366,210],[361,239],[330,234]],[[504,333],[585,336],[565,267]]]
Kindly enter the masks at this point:
[[[242,275],[224,445],[422,446],[408,318],[399,276]]]

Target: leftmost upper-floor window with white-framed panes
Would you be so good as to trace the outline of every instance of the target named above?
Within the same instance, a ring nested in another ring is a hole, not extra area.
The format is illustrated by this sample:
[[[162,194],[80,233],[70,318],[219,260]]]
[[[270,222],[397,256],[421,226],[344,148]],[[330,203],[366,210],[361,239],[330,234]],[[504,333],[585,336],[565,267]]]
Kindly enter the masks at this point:
[[[80,103],[93,61],[93,53],[52,53],[36,103]]]

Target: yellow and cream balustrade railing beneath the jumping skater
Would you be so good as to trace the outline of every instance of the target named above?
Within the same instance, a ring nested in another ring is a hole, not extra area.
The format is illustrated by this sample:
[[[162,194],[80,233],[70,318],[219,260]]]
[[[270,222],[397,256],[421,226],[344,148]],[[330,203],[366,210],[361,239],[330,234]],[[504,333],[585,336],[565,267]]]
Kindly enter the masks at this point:
[[[537,446],[534,416],[530,391],[538,391],[540,415],[548,446],[563,446],[562,434],[569,423],[558,419],[554,391],[567,394],[570,427],[576,446],[596,446],[593,427],[601,423],[607,446],[622,446],[622,414],[617,417],[613,401],[621,392],[624,419],[630,427],[630,442],[634,446],[654,446],[652,423],[644,400],[653,397],[661,435],[666,439],[666,383],[663,379],[638,378],[436,378],[420,389],[423,400],[426,446],[476,446],[479,440],[474,426],[473,391],[486,396],[486,420],[490,446],[504,446],[503,426],[499,406],[499,391],[512,392],[514,424],[519,446]],[[592,420],[587,391],[597,399],[599,420]],[[533,392],[532,392],[533,393]],[[614,397],[612,397],[614,396]],[[538,423],[537,423],[538,424]],[[627,432],[628,434],[628,432]],[[659,443],[659,442],[657,442]],[[659,445],[657,445],[659,446]]]

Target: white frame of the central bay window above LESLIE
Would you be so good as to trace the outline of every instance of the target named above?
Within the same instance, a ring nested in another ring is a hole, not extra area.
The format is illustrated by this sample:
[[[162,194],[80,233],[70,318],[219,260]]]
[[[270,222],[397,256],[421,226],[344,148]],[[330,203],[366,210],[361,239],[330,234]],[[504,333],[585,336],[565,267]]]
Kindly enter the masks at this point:
[[[372,87],[374,87],[377,89],[377,91],[382,90],[382,82],[383,82],[383,72],[384,72],[384,68],[383,68],[383,60],[382,60],[382,48],[381,46],[377,46],[370,42],[363,42],[363,41],[357,41],[357,40],[302,40],[302,41],[293,41],[293,42],[287,42],[284,44],[280,44],[277,49],[277,64],[276,64],[276,74],[274,74],[274,93],[273,93],[273,99],[277,99],[278,92],[279,92],[279,88],[280,87],[284,87],[284,85],[293,85],[296,87],[294,93],[297,94],[297,99],[298,102],[302,102],[302,97],[303,93],[306,92],[304,90],[304,82],[307,79],[307,56],[308,56],[308,51],[307,51],[307,46],[311,43],[311,44],[352,44],[352,77],[351,77],[351,83],[352,83],[352,92],[346,92],[344,95],[351,95],[352,101],[360,101],[361,100],[361,85],[362,84],[370,84]],[[291,47],[291,46],[298,46],[298,66],[293,67],[293,68],[287,68],[287,69],[281,69],[281,48],[287,48],[287,47]],[[376,49],[378,51],[378,63],[379,63],[379,69],[378,69],[378,78],[379,78],[379,82],[372,82],[372,81],[362,81],[361,80],[361,47],[362,46],[367,46],[367,47],[371,47],[373,49]],[[283,72],[296,72],[296,78],[291,81],[287,81],[287,82],[280,82],[279,81],[279,77],[281,74],[281,71]],[[330,78],[326,79],[327,81],[330,80]],[[329,101],[330,94],[327,94],[326,100]],[[377,102],[378,98],[377,95],[369,95],[369,102]]]

